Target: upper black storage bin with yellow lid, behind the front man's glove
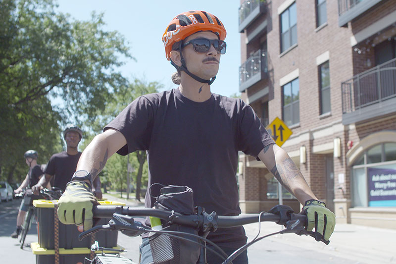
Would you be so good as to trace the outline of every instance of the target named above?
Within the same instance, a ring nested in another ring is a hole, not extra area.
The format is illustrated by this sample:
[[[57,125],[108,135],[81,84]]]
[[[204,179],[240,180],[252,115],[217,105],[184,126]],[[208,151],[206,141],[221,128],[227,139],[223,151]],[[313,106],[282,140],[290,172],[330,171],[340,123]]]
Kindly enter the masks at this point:
[[[125,206],[124,203],[112,201],[99,201],[100,205],[117,205]],[[36,207],[38,227],[39,227],[39,245],[47,250],[54,249],[54,204],[49,200],[35,200],[33,206]],[[97,225],[107,224],[110,218],[102,218]],[[59,248],[75,249],[75,248],[91,248],[92,240],[90,237],[78,240],[80,232],[76,225],[65,225],[59,222]],[[117,246],[118,230],[99,231],[94,234],[95,240],[99,242],[99,246],[112,248]]]

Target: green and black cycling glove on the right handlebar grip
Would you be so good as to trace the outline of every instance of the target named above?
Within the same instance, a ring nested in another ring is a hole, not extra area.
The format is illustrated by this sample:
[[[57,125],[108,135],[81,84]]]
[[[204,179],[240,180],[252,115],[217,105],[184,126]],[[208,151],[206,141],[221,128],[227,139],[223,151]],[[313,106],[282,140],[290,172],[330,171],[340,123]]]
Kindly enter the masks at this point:
[[[326,208],[326,204],[318,200],[308,200],[305,202],[302,211],[308,218],[307,231],[315,228],[314,237],[316,241],[322,238],[329,241],[336,224],[336,216],[332,211]]]

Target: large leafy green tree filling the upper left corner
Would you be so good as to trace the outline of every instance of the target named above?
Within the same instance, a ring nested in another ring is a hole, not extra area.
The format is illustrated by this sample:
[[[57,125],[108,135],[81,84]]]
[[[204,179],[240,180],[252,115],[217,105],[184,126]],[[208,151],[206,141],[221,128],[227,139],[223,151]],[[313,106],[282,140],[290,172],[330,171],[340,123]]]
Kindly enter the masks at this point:
[[[102,29],[103,15],[75,21],[54,6],[52,0],[0,1],[2,178],[26,175],[28,149],[47,162],[62,148],[59,126],[94,119],[128,83],[117,67],[132,56],[123,36]],[[58,98],[64,103],[51,104]]]

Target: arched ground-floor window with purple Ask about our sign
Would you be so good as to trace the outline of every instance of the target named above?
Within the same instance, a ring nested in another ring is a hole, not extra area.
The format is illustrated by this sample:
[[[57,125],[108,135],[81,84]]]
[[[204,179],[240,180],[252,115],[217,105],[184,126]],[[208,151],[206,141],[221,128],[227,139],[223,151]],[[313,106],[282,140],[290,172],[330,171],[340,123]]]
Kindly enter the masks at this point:
[[[396,143],[365,151],[352,166],[353,207],[396,207]]]

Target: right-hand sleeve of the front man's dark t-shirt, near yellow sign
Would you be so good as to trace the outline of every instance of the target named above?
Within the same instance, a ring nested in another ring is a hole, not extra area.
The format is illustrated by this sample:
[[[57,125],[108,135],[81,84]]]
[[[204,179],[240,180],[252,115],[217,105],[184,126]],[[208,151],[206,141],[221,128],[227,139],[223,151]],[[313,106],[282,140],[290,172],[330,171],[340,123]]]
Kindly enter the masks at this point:
[[[242,100],[240,102],[241,119],[238,147],[245,154],[257,158],[264,147],[275,142],[260,122],[253,108],[246,105]]]

